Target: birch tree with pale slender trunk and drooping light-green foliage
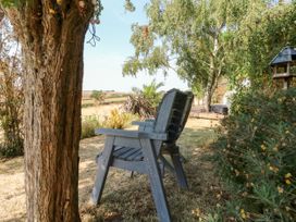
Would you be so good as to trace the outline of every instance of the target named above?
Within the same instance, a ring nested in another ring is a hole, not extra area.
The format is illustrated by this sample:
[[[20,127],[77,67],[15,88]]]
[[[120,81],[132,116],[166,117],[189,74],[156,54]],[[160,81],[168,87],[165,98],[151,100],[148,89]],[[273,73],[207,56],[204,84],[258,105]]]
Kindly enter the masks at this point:
[[[233,27],[248,2],[152,0],[147,7],[149,25],[133,26],[135,54],[125,62],[123,74],[172,69],[190,87],[205,92],[209,110],[218,81],[227,73]]]

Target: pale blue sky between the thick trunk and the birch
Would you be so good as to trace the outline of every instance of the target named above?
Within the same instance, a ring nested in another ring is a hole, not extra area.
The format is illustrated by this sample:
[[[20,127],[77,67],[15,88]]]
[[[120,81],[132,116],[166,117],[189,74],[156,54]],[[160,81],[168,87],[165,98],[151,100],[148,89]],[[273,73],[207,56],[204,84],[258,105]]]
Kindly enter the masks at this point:
[[[137,77],[122,76],[122,65],[124,61],[133,55],[134,49],[130,44],[133,23],[147,24],[144,11],[147,0],[133,1],[136,11],[125,12],[124,0],[102,0],[103,11],[100,17],[101,23],[97,26],[97,35],[100,41],[96,47],[85,45],[84,51],[84,90],[101,89],[131,91],[132,87],[141,87],[143,84],[150,83],[153,78],[163,82],[161,88],[186,89],[187,84],[181,81],[174,72],[170,72],[164,77],[161,72],[155,76],[149,76],[145,72],[138,73]],[[89,35],[86,36],[86,40]]]

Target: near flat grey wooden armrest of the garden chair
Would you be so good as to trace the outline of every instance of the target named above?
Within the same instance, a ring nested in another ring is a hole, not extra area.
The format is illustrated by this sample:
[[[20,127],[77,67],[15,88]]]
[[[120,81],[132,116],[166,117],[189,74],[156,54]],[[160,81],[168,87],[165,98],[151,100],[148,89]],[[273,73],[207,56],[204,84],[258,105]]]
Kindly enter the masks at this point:
[[[103,134],[107,136],[126,137],[126,138],[149,138],[156,140],[166,140],[168,135],[164,133],[153,133],[153,132],[138,132],[138,131],[123,131],[114,128],[96,128],[95,134]]]

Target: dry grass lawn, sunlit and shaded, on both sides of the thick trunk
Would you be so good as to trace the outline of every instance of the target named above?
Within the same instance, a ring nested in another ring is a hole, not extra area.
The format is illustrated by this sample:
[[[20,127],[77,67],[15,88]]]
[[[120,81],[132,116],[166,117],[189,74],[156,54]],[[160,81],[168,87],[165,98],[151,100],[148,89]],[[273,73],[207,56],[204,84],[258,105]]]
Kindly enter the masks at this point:
[[[189,190],[181,190],[175,178],[166,172],[164,187],[173,221],[197,221],[220,201],[220,185],[213,174],[208,145],[214,140],[217,121],[189,119],[178,145],[186,158],[185,172]],[[96,155],[102,150],[103,137],[81,143],[79,209],[83,221],[157,221],[156,209],[146,175],[111,169],[101,205],[89,203],[95,180]],[[23,158],[0,162],[0,221],[25,220]]]

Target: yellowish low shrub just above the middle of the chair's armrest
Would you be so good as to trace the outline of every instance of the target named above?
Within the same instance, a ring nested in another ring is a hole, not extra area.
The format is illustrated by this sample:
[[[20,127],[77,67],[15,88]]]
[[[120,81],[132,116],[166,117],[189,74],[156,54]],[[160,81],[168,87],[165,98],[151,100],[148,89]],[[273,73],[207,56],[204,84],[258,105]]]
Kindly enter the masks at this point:
[[[110,115],[103,121],[103,126],[108,128],[125,128],[135,119],[136,115],[113,109]]]

